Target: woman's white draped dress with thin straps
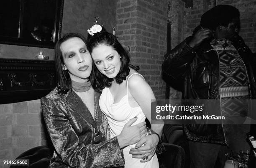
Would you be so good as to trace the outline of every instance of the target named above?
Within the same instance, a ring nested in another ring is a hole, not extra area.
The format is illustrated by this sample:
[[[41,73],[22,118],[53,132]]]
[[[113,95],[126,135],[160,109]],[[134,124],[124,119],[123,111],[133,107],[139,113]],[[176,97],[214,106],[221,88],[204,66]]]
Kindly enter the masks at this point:
[[[134,73],[137,74],[137,73]],[[133,75],[133,74],[132,74]],[[132,76],[131,75],[131,76]],[[138,74],[141,75],[141,74]],[[130,76],[130,77],[131,77]],[[129,77],[129,78],[130,78]],[[129,80],[127,79],[127,82]],[[128,87],[127,87],[128,93]],[[127,94],[118,103],[113,103],[113,96],[109,88],[104,88],[100,96],[99,105],[103,114],[106,115],[108,119],[108,124],[110,126],[110,136],[111,138],[118,136],[123,130],[124,125],[135,116],[138,117],[133,125],[145,121],[146,116],[144,115],[140,106],[131,107],[128,103]],[[149,105],[150,106],[150,105]],[[150,161],[146,163],[141,163],[141,159],[132,158],[129,151],[134,148],[136,144],[127,146],[123,148],[123,154],[125,158],[125,168],[158,168],[159,163],[156,154],[151,158]]]

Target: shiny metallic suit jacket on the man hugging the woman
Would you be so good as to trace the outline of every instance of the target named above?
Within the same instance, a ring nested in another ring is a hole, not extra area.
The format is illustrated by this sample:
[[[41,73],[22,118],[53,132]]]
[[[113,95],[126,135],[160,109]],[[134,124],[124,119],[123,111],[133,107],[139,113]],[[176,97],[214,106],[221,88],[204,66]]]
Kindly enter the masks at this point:
[[[55,88],[41,99],[47,131],[54,145],[52,168],[105,168],[124,166],[117,138],[111,138],[108,121],[94,92],[95,120],[72,90],[56,94]]]

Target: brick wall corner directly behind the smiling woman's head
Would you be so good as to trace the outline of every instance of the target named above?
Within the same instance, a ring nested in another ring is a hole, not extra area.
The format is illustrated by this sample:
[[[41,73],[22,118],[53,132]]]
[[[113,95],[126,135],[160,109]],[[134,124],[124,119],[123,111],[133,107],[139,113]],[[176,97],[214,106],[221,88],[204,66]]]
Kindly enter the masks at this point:
[[[116,27],[131,64],[140,66],[156,99],[164,99],[161,61],[166,53],[167,0],[118,0]]]

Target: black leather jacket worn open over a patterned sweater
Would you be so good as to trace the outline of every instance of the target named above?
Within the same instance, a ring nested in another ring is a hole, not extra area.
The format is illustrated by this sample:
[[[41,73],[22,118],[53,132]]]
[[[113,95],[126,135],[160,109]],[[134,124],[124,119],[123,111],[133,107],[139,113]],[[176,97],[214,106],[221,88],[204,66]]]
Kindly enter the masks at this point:
[[[202,42],[197,49],[188,44],[188,37],[164,55],[162,70],[178,85],[182,99],[220,99],[220,68],[217,51],[209,42]],[[243,43],[235,45],[246,66],[250,98],[255,99],[256,83],[250,63],[254,62],[251,50]],[[227,143],[223,125],[186,125],[187,138],[207,143]]]

